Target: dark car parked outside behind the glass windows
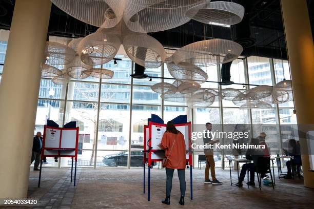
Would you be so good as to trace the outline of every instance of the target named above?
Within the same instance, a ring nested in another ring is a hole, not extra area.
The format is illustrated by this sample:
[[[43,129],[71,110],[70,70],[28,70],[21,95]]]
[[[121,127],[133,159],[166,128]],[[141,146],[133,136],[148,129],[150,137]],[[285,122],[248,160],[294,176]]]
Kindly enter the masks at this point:
[[[128,166],[128,151],[104,156],[103,163],[107,166]],[[143,149],[131,151],[131,166],[143,166]]]

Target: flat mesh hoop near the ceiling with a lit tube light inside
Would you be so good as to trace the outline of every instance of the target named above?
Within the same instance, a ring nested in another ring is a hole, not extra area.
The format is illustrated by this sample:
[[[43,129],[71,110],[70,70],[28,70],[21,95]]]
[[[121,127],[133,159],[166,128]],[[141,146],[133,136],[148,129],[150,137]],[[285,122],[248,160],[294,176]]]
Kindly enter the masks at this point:
[[[231,26],[242,21],[244,7],[232,2],[206,2],[192,7],[186,15],[205,24]]]

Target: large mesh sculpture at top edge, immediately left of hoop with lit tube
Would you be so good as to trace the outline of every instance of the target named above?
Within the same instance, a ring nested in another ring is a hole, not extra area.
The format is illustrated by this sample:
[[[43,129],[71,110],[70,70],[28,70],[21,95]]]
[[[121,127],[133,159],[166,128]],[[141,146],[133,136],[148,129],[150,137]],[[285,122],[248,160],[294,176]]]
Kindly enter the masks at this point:
[[[123,19],[134,32],[164,31],[187,23],[186,11],[203,3],[205,0],[128,0]]]

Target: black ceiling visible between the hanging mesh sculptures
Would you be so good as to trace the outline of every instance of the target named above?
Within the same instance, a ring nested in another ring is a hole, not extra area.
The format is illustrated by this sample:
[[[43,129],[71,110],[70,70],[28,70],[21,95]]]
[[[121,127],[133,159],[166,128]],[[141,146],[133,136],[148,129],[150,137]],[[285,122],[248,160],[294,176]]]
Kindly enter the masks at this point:
[[[245,48],[243,56],[287,59],[280,0],[233,0],[232,2],[245,7],[245,15],[240,24],[224,28],[204,26],[191,20],[178,28],[150,33],[150,35],[165,47],[180,48],[194,41],[204,40],[205,34],[207,39],[224,38],[237,41]],[[307,2],[314,35],[314,0],[307,0]],[[14,3],[15,0],[0,0],[0,29],[10,29]],[[85,24],[52,6],[49,35],[84,37],[96,30],[97,27]]]

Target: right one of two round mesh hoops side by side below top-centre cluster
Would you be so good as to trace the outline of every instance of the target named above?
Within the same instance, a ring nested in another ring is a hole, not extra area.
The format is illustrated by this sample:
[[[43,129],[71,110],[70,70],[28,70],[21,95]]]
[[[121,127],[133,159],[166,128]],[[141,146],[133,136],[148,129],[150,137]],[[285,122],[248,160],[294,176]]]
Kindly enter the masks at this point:
[[[146,68],[158,68],[166,59],[166,52],[161,43],[147,34],[126,35],[123,47],[130,59]]]

